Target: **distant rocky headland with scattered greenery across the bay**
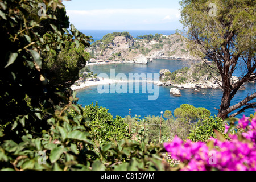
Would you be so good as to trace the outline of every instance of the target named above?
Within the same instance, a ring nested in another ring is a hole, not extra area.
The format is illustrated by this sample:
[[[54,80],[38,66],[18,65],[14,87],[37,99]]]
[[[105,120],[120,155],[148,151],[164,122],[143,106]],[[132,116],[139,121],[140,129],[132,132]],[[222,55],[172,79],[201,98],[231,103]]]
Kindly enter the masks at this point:
[[[113,32],[97,40],[86,51],[91,58],[110,61],[135,61],[144,55],[147,60],[200,60],[186,48],[187,38],[180,34],[144,35],[133,38],[129,32]]]

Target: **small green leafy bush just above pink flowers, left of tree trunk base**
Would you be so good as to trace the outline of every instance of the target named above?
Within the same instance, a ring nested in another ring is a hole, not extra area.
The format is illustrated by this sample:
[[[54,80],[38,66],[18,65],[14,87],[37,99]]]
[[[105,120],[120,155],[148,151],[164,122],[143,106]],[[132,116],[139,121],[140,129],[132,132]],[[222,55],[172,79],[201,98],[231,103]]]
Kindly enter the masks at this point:
[[[225,124],[221,118],[210,117],[196,123],[195,129],[191,130],[188,139],[193,142],[207,142],[210,137],[217,138],[214,130],[217,130],[225,139],[229,139],[227,134],[224,134]]]

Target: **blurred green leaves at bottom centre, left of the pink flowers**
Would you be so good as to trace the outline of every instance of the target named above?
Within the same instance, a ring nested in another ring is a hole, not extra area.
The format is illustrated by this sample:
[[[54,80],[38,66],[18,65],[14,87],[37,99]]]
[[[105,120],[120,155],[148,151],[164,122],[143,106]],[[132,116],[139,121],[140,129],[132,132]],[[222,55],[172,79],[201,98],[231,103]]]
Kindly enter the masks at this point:
[[[117,171],[163,171],[170,169],[167,163],[163,162],[163,156],[159,155],[163,152],[162,145],[148,144],[148,139],[121,140],[113,141],[104,147],[100,147],[99,151],[103,156],[108,156],[108,166],[106,170]]]

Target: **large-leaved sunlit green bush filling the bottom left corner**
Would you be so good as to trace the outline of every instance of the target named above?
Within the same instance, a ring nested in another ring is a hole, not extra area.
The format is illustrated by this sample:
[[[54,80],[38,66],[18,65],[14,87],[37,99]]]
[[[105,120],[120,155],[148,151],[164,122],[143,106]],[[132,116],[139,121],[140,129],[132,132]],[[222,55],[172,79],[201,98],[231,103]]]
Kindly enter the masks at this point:
[[[63,93],[58,94],[64,97]],[[3,136],[0,136],[1,169],[88,170],[90,166],[88,157],[96,154],[87,149],[93,143],[85,120],[80,115],[72,117],[67,112],[67,109],[72,108],[81,114],[81,109],[72,104],[74,99],[75,94],[66,100],[65,103],[68,104],[65,107],[58,107],[48,113],[51,115],[51,118],[47,119],[48,129],[44,128],[40,133],[27,131],[20,136],[20,142],[14,140],[3,142]],[[23,124],[26,126],[29,123],[25,121]],[[41,165],[39,161],[45,163]]]

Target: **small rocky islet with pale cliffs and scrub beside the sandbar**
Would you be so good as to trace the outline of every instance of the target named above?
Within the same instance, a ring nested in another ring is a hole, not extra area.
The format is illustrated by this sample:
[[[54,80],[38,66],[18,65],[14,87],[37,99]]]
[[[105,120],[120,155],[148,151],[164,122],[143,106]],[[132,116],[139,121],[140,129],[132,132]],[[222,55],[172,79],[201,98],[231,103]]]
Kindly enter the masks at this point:
[[[209,63],[214,68],[214,63]],[[193,89],[193,93],[200,92],[201,89],[222,89],[221,76],[216,69],[210,69],[205,63],[194,63],[190,68],[184,67],[177,71],[170,72],[168,69],[160,70],[159,86],[174,86],[170,93],[180,96],[179,89]],[[232,81],[237,82],[238,77],[232,76]],[[245,90],[242,85],[240,90]],[[202,92],[201,94],[206,94]]]

